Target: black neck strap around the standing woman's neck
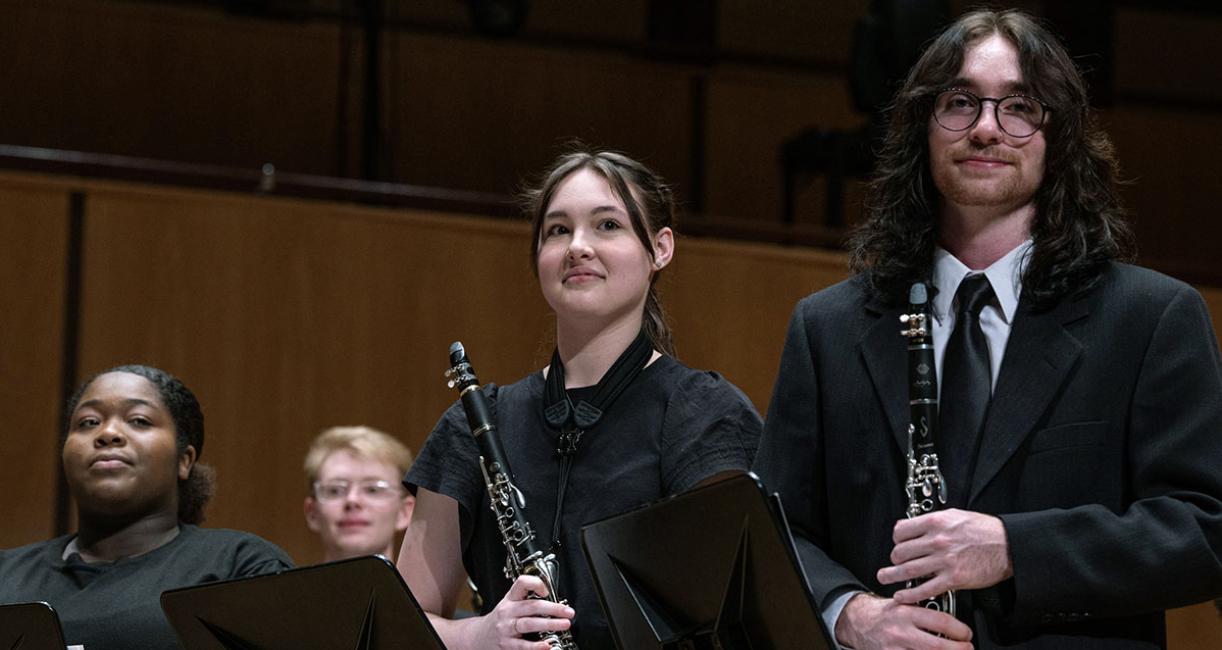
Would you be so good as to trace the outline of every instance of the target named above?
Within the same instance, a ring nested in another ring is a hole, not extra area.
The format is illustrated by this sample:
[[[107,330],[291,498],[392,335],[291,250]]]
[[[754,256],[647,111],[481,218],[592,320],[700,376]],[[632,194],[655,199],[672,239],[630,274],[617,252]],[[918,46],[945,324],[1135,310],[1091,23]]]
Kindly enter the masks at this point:
[[[602,418],[602,413],[615,402],[616,397],[637,379],[645,369],[654,346],[645,330],[611,364],[598,386],[594,387],[591,401],[582,400],[573,406],[565,391],[565,364],[560,360],[560,349],[551,353],[551,367],[547,370],[547,382],[544,391],[543,417],[556,431],[588,431]],[[561,451],[563,453],[563,451]]]

